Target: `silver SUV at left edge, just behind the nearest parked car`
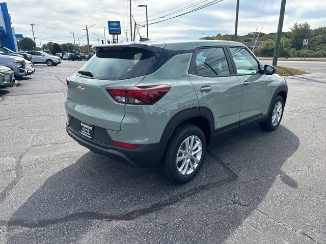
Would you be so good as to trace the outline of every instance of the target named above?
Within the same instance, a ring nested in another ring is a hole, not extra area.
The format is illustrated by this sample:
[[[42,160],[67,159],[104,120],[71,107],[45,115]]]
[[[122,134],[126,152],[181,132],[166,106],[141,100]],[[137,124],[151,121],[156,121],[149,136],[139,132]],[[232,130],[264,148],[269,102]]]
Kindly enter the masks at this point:
[[[27,73],[26,62],[23,57],[0,54],[0,65],[9,67],[13,70],[15,77],[22,77]]]

